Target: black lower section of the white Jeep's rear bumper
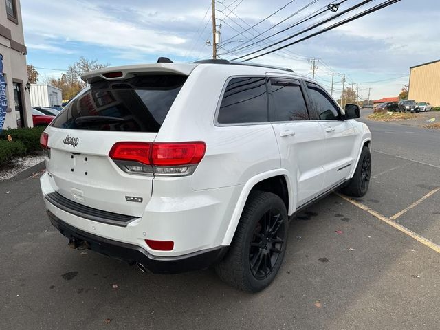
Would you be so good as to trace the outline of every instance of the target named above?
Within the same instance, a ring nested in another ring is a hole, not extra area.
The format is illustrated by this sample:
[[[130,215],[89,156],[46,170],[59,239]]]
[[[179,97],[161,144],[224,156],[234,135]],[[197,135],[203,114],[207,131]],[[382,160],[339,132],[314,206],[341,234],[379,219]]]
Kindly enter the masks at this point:
[[[50,211],[47,211],[47,214],[52,225],[69,241],[84,242],[90,250],[126,261],[131,265],[140,263],[146,270],[156,274],[175,274],[200,270],[220,261],[228,250],[228,246],[221,246],[182,256],[153,256],[140,246],[104,239],[65,223]]]

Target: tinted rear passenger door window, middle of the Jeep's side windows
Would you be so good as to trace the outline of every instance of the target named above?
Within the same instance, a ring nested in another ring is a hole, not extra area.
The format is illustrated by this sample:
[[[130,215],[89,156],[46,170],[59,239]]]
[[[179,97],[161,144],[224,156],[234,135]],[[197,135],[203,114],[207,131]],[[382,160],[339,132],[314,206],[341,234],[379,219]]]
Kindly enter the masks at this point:
[[[274,111],[271,112],[272,122],[289,120],[309,120],[309,113],[300,82],[295,79],[270,78],[270,88],[274,100]]]

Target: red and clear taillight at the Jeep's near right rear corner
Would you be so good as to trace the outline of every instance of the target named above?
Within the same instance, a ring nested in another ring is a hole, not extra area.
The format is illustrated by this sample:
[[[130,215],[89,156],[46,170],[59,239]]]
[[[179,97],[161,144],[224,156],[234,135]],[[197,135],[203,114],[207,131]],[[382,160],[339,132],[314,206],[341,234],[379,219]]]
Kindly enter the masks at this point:
[[[190,175],[206,151],[204,142],[118,142],[109,157],[125,172],[155,175]]]

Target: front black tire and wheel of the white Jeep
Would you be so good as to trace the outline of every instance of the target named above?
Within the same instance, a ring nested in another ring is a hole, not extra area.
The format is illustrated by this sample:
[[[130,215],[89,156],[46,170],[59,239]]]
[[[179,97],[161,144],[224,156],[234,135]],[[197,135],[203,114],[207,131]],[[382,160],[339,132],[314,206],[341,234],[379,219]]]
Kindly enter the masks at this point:
[[[369,190],[371,179],[371,153],[370,149],[364,146],[360,154],[358,167],[349,183],[341,190],[345,195],[362,197]]]

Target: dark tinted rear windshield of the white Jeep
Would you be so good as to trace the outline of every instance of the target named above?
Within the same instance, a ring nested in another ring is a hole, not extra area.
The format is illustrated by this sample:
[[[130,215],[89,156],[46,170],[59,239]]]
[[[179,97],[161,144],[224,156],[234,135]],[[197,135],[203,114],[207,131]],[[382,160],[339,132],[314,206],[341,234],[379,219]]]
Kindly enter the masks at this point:
[[[69,102],[51,126],[157,133],[186,78],[151,75],[97,81]]]

